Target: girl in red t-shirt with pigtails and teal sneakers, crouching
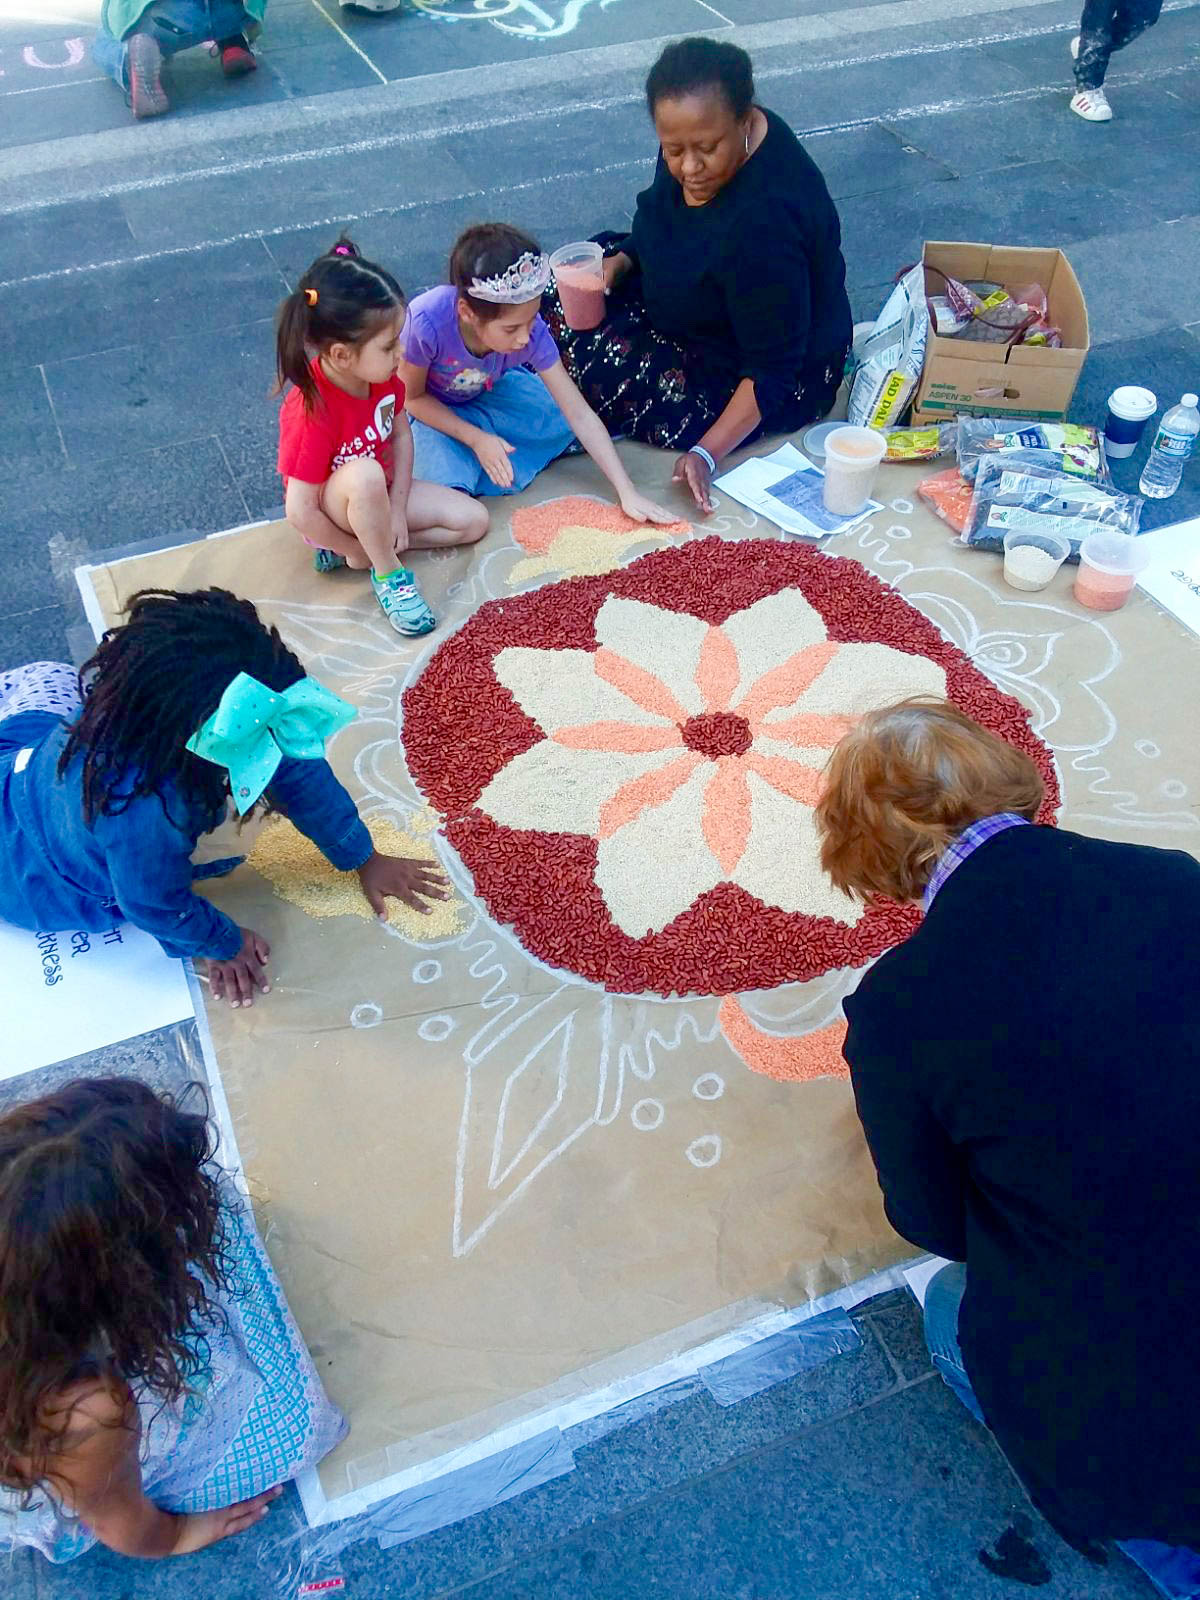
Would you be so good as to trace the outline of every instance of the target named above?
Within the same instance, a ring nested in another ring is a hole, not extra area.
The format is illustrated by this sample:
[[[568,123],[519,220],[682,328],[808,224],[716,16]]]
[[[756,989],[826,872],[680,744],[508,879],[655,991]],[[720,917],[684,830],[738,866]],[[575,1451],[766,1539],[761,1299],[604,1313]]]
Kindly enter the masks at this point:
[[[413,480],[413,430],[397,378],[405,296],[390,272],[342,235],[275,318],[278,470],[291,526],[317,571],[362,566],[397,634],[437,626],[403,562],[410,549],[474,544],[488,531],[478,501]]]

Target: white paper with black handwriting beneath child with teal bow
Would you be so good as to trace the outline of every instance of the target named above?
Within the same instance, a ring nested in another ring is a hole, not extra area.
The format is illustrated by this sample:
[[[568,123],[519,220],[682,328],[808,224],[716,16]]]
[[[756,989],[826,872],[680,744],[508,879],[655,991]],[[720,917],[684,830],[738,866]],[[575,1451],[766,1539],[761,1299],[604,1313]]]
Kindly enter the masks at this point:
[[[192,1014],[184,963],[141,928],[27,933],[0,922],[0,1078]]]

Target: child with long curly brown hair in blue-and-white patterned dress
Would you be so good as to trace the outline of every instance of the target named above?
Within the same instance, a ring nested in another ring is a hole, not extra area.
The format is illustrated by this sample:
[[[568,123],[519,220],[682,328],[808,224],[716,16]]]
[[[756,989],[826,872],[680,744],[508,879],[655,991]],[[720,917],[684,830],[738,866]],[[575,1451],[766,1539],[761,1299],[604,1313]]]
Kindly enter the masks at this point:
[[[213,1155],[133,1078],[0,1117],[0,1539],[187,1555],[344,1437]]]

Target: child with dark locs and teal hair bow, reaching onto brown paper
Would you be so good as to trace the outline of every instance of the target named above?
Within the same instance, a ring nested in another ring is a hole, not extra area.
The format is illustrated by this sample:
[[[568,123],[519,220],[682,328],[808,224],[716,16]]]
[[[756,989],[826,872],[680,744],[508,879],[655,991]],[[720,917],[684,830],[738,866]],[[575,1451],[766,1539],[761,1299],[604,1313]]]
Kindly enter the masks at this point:
[[[278,632],[224,589],[142,590],[80,674],[0,675],[0,918],[101,931],[126,920],[203,958],[216,997],[269,992],[267,941],[192,888],[197,842],[232,800],[282,811],[376,915],[443,899],[424,861],[384,856],[323,758],[354,707],[304,675]]]

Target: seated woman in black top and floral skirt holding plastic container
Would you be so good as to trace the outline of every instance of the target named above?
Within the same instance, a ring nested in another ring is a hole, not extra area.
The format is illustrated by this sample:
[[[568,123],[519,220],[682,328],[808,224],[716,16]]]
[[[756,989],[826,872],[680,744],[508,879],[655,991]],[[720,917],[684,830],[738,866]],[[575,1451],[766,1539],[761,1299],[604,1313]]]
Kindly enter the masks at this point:
[[[736,45],[667,45],[646,78],[654,181],[627,237],[600,235],[611,294],[563,360],[613,434],[682,448],[675,478],[710,509],[712,469],[758,432],[834,405],[850,349],[842,227],[792,130],[754,101]]]

